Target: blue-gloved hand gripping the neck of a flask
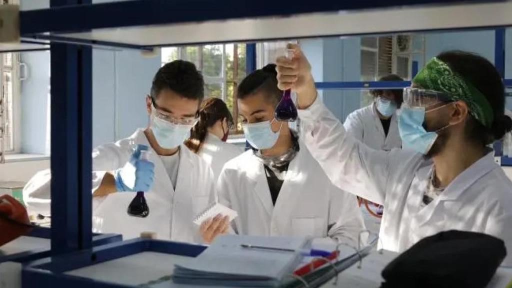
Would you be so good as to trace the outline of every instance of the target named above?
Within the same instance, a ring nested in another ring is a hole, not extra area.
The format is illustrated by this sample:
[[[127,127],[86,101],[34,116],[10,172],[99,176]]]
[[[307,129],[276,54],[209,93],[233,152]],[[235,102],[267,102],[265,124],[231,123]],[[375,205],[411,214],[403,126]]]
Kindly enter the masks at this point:
[[[130,160],[123,168],[115,171],[116,190],[118,192],[148,192],[153,186],[155,164],[146,159],[140,159],[141,151],[147,151],[147,146],[137,145]]]

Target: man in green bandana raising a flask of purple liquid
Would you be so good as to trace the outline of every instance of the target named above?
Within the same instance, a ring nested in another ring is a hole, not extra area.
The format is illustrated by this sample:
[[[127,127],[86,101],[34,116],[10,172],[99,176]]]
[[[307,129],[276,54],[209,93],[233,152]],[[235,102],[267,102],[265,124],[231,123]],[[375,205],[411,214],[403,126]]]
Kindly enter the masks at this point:
[[[384,249],[402,252],[451,229],[503,239],[512,251],[512,182],[486,145],[512,128],[495,67],[460,51],[434,57],[404,90],[398,126],[404,150],[355,141],[316,97],[300,48],[278,59],[279,85],[297,92],[302,138],[338,187],[384,204]],[[509,253],[503,264],[512,264]]]

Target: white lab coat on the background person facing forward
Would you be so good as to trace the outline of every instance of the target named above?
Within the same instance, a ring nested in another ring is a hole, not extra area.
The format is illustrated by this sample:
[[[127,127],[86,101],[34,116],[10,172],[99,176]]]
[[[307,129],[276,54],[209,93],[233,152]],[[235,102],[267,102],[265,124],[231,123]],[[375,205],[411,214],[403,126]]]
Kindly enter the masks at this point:
[[[373,149],[389,151],[402,147],[396,113],[391,116],[388,136],[386,136],[374,103],[350,113],[343,125],[354,138]]]

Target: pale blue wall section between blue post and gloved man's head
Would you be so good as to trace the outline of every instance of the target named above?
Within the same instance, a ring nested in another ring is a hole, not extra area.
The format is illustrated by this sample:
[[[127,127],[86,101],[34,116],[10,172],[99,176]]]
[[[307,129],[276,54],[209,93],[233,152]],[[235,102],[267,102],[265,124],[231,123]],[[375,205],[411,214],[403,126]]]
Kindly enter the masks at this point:
[[[93,51],[93,147],[146,127],[145,96],[160,65],[160,55],[138,50]]]

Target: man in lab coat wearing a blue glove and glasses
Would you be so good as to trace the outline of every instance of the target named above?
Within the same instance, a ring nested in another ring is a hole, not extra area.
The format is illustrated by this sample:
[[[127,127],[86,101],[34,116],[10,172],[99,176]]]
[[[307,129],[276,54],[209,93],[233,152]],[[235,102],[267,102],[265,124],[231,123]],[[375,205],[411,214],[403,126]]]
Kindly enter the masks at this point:
[[[192,221],[215,200],[215,183],[208,164],[182,143],[197,121],[203,85],[194,64],[177,60],[164,65],[146,97],[148,126],[94,149],[95,232],[121,233],[126,239],[150,231],[160,239],[201,242]],[[140,145],[150,151],[148,160],[139,159]],[[46,183],[27,188],[29,207],[50,198]],[[150,213],[145,218],[126,213],[137,191],[147,192]],[[227,229],[227,221],[224,224]]]

